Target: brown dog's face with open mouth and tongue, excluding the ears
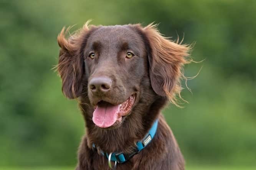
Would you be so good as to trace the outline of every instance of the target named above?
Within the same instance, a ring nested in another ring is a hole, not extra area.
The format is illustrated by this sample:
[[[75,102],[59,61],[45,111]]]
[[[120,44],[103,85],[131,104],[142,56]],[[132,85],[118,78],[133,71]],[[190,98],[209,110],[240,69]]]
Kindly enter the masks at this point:
[[[84,48],[92,121],[101,128],[120,125],[136,104],[147,64],[145,45],[129,26],[103,26]]]

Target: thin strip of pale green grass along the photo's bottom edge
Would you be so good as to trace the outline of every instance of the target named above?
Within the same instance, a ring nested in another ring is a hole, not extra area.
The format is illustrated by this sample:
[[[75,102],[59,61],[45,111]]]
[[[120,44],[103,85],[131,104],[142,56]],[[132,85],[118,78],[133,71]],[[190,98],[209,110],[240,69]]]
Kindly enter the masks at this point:
[[[220,166],[191,166],[186,170],[255,170],[255,167],[220,167]],[[0,167],[0,170],[74,170],[74,167],[23,167],[23,168],[9,168]]]

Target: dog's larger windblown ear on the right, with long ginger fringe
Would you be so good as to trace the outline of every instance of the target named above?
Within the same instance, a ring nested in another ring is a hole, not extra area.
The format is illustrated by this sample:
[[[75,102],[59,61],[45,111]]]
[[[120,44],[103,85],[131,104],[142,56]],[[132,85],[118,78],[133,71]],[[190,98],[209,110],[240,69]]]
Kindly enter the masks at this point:
[[[191,47],[168,40],[156,26],[150,24],[142,29],[147,42],[150,82],[155,93],[167,96],[178,106],[175,95],[180,97],[180,78],[184,77],[183,65],[190,62],[187,57]]]

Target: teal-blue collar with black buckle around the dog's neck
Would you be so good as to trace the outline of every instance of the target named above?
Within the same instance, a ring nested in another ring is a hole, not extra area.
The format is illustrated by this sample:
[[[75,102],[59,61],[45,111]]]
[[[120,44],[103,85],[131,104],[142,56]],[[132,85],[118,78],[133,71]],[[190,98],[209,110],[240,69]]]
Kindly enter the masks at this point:
[[[154,122],[152,127],[150,128],[149,132],[145,135],[145,137],[141,140],[136,142],[137,148],[130,154],[125,154],[123,152],[119,153],[112,153],[111,159],[112,161],[116,161],[117,163],[124,163],[127,160],[129,160],[133,155],[139,153],[142,149],[144,149],[154,138],[155,133],[157,132],[157,125],[158,125],[158,119]],[[92,148],[95,149],[95,144],[92,144]],[[101,151],[101,154],[104,155],[107,159],[109,159],[109,154],[106,152]]]

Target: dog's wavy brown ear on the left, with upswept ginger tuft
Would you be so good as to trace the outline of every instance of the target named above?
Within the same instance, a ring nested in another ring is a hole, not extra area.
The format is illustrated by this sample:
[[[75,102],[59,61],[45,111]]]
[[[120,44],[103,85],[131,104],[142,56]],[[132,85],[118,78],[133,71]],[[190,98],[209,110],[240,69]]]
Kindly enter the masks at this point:
[[[81,48],[85,47],[87,35],[90,32],[88,23],[83,29],[69,34],[69,28],[63,28],[58,35],[58,44],[61,48],[59,51],[59,62],[57,65],[58,73],[62,79],[63,94],[74,99],[83,93],[84,84],[84,59]],[[66,34],[70,36],[66,38]]]

